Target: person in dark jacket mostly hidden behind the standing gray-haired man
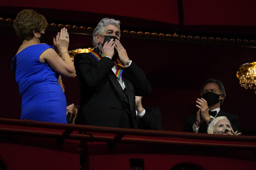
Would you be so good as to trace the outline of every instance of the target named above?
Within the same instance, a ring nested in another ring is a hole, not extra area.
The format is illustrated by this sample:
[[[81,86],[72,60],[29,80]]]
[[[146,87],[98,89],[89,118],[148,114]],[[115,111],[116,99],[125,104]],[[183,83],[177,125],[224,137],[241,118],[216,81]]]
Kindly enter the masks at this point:
[[[142,107],[141,96],[135,96],[139,129],[163,130],[162,115],[157,107]]]

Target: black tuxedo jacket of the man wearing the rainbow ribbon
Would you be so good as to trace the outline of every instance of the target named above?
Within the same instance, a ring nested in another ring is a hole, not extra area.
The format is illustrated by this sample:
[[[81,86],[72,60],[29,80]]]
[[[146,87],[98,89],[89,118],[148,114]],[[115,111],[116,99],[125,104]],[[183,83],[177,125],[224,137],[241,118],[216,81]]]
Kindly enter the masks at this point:
[[[96,49],[94,52],[98,53]],[[99,54],[99,56],[101,56]],[[119,127],[122,109],[121,85],[111,70],[115,63],[108,57],[97,61],[89,53],[76,54],[74,65],[80,87],[80,108],[75,124]],[[123,70],[122,80],[128,94],[130,116],[135,129],[138,129],[135,112],[135,95],[146,96],[151,85],[144,72],[135,64]],[[118,88],[118,86],[120,86]]]

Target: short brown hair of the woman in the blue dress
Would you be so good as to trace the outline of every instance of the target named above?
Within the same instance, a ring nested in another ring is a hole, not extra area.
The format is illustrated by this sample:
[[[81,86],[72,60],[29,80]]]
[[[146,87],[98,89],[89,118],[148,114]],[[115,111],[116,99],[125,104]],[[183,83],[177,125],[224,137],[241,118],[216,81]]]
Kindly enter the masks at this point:
[[[19,12],[14,21],[13,27],[16,35],[21,41],[29,41],[34,37],[32,31],[41,31],[42,29],[46,29],[47,22],[42,14],[38,14],[31,9],[26,9]]]

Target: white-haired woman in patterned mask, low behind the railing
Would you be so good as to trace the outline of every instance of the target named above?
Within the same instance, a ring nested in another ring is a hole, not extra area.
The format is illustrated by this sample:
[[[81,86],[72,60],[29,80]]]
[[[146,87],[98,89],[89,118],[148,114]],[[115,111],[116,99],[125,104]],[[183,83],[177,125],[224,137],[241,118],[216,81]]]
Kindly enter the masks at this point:
[[[220,135],[241,135],[234,132],[226,116],[216,117],[208,126],[207,133]]]

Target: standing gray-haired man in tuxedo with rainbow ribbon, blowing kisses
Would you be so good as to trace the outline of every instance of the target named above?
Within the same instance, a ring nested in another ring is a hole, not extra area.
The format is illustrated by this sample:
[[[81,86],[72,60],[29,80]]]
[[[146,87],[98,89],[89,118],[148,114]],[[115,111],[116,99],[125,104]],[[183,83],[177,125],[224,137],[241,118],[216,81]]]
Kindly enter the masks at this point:
[[[74,57],[81,93],[75,124],[138,128],[135,95],[150,94],[151,86],[120,43],[119,23],[103,18],[93,32],[93,52]]]

